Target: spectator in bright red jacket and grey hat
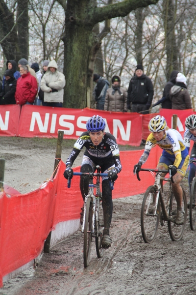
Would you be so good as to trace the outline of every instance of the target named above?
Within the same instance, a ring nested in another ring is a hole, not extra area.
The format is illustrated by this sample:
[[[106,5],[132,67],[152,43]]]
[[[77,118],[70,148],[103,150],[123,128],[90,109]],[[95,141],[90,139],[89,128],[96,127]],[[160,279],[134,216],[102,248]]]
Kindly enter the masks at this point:
[[[32,105],[37,95],[37,80],[29,73],[26,65],[21,65],[20,74],[21,78],[17,80],[16,84],[16,103]]]

